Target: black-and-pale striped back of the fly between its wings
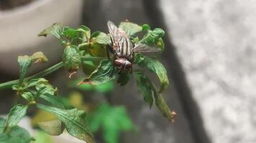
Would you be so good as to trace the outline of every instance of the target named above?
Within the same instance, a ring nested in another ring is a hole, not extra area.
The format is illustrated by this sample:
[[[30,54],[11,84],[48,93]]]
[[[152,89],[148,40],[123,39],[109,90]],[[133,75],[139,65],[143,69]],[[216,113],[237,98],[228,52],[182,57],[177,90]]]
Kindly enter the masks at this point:
[[[122,39],[119,41],[119,47],[116,54],[120,57],[132,59],[132,42],[128,37],[122,37]]]

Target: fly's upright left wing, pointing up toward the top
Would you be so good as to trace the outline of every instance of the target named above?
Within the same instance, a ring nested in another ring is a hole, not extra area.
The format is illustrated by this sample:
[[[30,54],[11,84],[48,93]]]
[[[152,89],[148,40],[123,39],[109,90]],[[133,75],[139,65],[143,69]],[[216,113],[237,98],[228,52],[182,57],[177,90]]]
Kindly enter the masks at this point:
[[[109,28],[109,34],[111,36],[112,46],[114,49],[116,49],[119,45],[119,41],[122,39],[122,32],[119,31],[119,29],[116,27],[116,25],[108,21],[108,28]]]

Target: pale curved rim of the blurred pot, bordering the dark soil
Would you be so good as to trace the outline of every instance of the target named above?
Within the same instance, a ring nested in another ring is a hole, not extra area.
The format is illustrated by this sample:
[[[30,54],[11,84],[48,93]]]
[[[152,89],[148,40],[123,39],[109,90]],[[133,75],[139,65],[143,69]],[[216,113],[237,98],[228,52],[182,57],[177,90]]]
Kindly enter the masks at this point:
[[[23,6],[17,6],[14,9],[6,9],[4,11],[0,10],[0,21],[6,17],[17,16],[19,14],[31,12],[34,9],[46,4],[50,0],[34,0],[29,2],[29,4],[24,4]]]

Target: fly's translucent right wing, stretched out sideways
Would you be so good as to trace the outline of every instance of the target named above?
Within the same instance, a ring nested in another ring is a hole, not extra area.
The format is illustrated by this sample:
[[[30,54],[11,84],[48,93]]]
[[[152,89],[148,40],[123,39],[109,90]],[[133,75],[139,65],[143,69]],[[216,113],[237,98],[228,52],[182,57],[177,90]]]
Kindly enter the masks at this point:
[[[160,48],[148,46],[147,44],[136,44],[132,49],[134,53],[152,53],[161,51]]]

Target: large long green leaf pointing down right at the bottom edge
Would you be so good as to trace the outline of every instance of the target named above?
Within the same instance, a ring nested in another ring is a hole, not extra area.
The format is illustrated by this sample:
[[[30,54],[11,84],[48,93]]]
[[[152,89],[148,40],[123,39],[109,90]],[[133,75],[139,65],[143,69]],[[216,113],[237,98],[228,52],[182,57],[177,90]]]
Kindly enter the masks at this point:
[[[64,124],[69,134],[88,143],[95,142],[90,129],[86,124],[86,112],[78,109],[58,109],[47,107],[43,104],[36,104],[39,109],[55,114]]]

